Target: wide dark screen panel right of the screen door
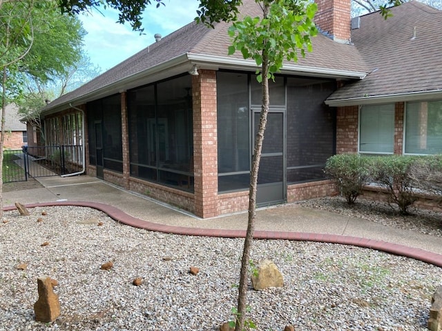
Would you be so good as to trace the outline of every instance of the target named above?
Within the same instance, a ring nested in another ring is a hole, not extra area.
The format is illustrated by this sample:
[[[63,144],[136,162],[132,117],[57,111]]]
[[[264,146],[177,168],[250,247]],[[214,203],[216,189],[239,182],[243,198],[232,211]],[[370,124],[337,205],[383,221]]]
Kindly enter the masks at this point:
[[[335,86],[322,79],[287,79],[287,183],[324,178],[336,137],[336,110],[324,100]]]

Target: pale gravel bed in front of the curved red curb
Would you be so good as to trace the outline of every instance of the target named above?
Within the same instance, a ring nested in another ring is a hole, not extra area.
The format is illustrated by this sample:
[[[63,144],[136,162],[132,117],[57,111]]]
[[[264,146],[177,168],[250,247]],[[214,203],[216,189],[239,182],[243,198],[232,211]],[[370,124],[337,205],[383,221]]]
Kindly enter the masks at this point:
[[[0,223],[1,331],[218,330],[232,318],[242,239],[148,232],[89,208],[30,212],[7,212]],[[427,330],[442,282],[442,268],[345,245],[255,241],[252,258],[271,259],[285,279],[283,288],[249,290],[258,330]],[[101,270],[107,261],[114,267]],[[59,282],[53,323],[35,322],[43,275]]]

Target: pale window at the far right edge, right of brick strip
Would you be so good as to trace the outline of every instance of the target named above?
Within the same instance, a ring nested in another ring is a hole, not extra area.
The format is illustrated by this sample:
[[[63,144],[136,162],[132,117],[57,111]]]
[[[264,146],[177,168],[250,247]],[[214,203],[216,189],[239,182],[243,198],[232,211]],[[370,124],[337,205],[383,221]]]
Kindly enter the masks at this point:
[[[442,101],[407,103],[405,154],[439,153],[442,153]]]

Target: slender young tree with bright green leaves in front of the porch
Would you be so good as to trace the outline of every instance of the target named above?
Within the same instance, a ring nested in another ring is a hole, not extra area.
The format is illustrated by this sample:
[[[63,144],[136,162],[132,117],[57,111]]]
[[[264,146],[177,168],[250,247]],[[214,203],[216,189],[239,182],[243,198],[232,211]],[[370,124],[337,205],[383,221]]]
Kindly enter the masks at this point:
[[[305,56],[305,50],[311,50],[311,37],[317,33],[313,22],[316,3],[305,0],[256,0],[262,9],[262,16],[246,16],[239,20],[238,8],[241,3],[242,1],[220,3],[216,0],[201,0],[198,10],[198,20],[208,26],[213,26],[219,21],[233,22],[229,28],[229,35],[233,39],[229,54],[240,51],[244,59],[254,59],[260,68],[257,70],[257,79],[262,84],[260,124],[253,148],[250,173],[249,218],[241,259],[236,331],[243,330],[246,321],[248,268],[255,229],[258,170],[271,97],[269,79],[273,79],[273,75],[282,68],[285,60],[297,61],[299,53],[302,57]]]

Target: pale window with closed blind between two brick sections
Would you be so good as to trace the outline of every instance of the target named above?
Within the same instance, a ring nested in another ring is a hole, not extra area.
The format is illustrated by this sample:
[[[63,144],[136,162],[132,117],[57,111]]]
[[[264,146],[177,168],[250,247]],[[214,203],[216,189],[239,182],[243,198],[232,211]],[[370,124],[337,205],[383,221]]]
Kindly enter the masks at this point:
[[[359,112],[359,152],[393,154],[394,103],[361,108]]]

